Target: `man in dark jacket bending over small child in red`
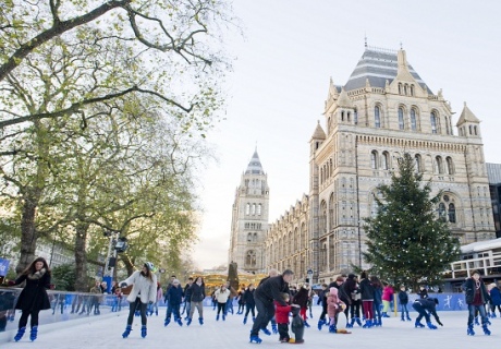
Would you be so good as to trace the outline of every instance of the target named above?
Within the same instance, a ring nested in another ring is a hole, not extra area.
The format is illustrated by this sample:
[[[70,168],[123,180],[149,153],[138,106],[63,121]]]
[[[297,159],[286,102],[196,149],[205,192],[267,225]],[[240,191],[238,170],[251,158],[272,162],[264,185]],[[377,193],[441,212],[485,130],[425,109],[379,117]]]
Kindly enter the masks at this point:
[[[289,282],[292,280],[294,273],[286,269],[282,275],[273,276],[260,284],[254,291],[256,301],[257,316],[250,330],[250,342],[261,342],[259,329],[266,328],[268,322],[274,315],[273,300],[282,305],[288,305],[281,293],[289,293]]]

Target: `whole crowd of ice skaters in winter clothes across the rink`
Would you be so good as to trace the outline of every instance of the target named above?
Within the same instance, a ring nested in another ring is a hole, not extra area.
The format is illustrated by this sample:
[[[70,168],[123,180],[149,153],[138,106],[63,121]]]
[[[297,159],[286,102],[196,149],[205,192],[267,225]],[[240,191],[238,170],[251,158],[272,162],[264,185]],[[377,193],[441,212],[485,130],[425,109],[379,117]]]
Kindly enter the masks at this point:
[[[123,281],[112,284],[111,294],[115,297],[111,311],[121,310],[124,296],[129,302],[129,316],[122,334],[123,338],[130,336],[135,316],[140,316],[140,336],[145,338],[147,316],[154,313],[158,315],[158,304],[162,299],[167,304],[164,326],[171,323],[172,317],[179,326],[184,324],[190,326],[195,311],[199,325],[204,325],[204,300],[207,297],[207,289],[203,277],[188,278],[187,284],[183,287],[181,281],[172,275],[163,291],[160,284],[157,282],[154,264],[146,262],[140,270],[133,273]],[[233,314],[235,301],[236,314],[243,315],[244,325],[249,322],[248,316],[250,316],[250,342],[261,342],[260,333],[279,334],[281,342],[303,342],[304,329],[310,327],[308,321],[313,318],[313,300],[315,296],[318,296],[317,304],[321,305],[317,324],[319,330],[323,326],[328,327],[329,333],[346,333],[346,329],[343,328],[351,328],[355,325],[363,328],[380,327],[383,318],[390,316],[392,302],[394,306],[400,308],[401,321],[412,321],[405,285],[400,285],[400,291],[396,292],[390,282],[381,281],[377,276],[362,272],[359,276],[340,275],[331,284],[321,285],[321,290],[315,292],[308,282],[297,288],[291,285],[293,275],[294,273],[290,269],[281,274],[271,269],[257,286],[250,284],[235,290],[230,282],[220,285],[210,294],[216,313],[215,320],[225,321],[229,314]],[[52,314],[54,314],[60,306],[62,313],[63,304],[65,304],[64,297],[58,294],[52,300],[53,306],[51,305],[47,293],[47,289],[51,288],[50,281],[50,268],[47,262],[39,257],[33,261],[14,281],[10,282],[10,286],[24,282],[24,288],[15,300],[15,309],[21,310],[21,318],[14,340],[19,341],[23,338],[29,317],[29,339],[33,341],[37,338],[38,314],[41,310],[52,309]],[[126,294],[123,292],[125,288],[127,288]],[[486,286],[480,273],[473,270],[462,289],[468,306],[467,335],[475,335],[474,323],[481,324],[484,334],[490,335],[489,318],[501,316],[500,288],[493,282]],[[106,292],[108,292],[108,285],[96,281],[89,290],[89,296],[74,294],[71,313],[89,315],[94,311],[95,315],[100,314],[100,294]],[[438,325],[443,326],[437,314],[438,299],[428,294],[426,285],[419,287],[417,294],[418,298],[411,305],[417,312],[414,326],[437,329],[431,317]],[[421,323],[423,318],[426,325]],[[270,323],[271,330],[268,329]],[[294,334],[294,338],[290,336],[289,330]]]

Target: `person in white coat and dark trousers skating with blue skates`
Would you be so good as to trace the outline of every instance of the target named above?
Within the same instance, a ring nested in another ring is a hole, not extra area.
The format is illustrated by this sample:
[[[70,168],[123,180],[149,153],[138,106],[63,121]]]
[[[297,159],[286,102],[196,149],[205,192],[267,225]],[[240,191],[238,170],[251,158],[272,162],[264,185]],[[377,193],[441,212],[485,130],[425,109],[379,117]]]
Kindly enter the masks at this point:
[[[140,336],[143,338],[146,337],[146,306],[157,300],[157,276],[152,273],[154,268],[155,266],[151,262],[146,262],[140,272],[134,272],[127,279],[120,282],[120,287],[133,285],[131,293],[127,297],[130,308],[127,326],[122,334],[123,338],[127,338],[131,334],[136,309],[140,311]]]

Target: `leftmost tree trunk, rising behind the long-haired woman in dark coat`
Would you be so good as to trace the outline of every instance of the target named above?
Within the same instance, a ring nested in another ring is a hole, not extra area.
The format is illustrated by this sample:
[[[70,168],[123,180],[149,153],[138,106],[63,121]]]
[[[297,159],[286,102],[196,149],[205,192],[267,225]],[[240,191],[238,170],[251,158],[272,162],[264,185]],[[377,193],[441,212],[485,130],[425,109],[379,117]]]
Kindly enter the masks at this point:
[[[21,214],[21,255],[15,273],[21,274],[34,260],[37,248],[35,228],[36,210],[40,195],[37,191],[26,191]]]

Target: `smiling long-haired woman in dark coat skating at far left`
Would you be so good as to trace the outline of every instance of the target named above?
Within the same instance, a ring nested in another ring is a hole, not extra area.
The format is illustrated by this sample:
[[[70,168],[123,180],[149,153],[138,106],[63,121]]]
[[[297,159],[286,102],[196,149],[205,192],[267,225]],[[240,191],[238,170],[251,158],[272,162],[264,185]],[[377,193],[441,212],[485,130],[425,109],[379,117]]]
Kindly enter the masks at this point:
[[[20,285],[23,281],[26,281],[26,286],[21,291],[15,304],[15,309],[22,310],[17,334],[14,337],[15,341],[23,337],[29,315],[32,315],[29,339],[37,339],[38,313],[40,310],[50,309],[50,301],[47,296],[47,289],[50,288],[50,269],[46,260],[38,257],[33,261],[11,286]]]

